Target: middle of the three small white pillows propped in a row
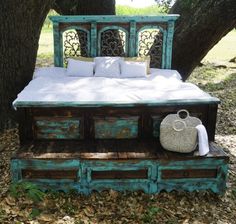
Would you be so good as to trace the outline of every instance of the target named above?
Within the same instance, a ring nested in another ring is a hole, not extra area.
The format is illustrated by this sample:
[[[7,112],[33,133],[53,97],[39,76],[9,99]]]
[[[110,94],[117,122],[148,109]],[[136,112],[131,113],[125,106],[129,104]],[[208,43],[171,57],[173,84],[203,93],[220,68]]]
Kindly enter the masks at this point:
[[[96,57],[95,74],[97,77],[119,77],[120,57]]]

